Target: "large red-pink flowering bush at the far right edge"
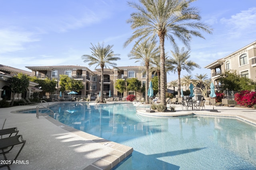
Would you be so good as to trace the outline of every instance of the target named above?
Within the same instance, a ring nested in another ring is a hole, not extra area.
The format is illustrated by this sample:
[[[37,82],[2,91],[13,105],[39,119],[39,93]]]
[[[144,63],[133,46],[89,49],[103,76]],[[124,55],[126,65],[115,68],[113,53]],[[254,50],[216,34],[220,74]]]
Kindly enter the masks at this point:
[[[240,106],[252,107],[256,104],[256,92],[244,90],[235,94],[235,101]]]

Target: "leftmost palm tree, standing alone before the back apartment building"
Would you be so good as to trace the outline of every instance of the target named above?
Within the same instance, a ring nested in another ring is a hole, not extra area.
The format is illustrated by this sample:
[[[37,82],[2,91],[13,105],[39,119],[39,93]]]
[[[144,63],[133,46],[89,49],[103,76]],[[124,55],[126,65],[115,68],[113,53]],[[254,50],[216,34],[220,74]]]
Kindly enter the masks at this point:
[[[92,43],[91,43],[92,45]],[[100,82],[100,102],[103,102],[103,83],[104,83],[104,67],[109,68],[109,66],[116,66],[116,63],[113,61],[120,60],[119,54],[114,54],[112,50],[113,45],[104,46],[104,42],[102,44],[98,43],[98,45],[92,45],[90,49],[92,50],[92,55],[82,55],[82,59],[84,59],[84,63],[88,63],[89,66],[96,64],[101,68],[101,82]],[[95,67],[95,68],[96,68]]]

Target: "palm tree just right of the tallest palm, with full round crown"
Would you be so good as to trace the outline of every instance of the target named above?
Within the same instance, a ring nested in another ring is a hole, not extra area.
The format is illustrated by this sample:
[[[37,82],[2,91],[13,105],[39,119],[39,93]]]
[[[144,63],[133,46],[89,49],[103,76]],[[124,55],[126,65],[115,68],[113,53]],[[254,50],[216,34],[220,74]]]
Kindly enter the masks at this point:
[[[171,51],[172,57],[166,61],[168,65],[174,67],[174,73],[178,72],[178,98],[180,98],[180,72],[181,70],[186,70],[191,73],[194,67],[200,68],[200,66],[193,61],[188,60],[190,58],[190,51],[185,51],[182,47],[181,51],[177,48],[177,52]]]

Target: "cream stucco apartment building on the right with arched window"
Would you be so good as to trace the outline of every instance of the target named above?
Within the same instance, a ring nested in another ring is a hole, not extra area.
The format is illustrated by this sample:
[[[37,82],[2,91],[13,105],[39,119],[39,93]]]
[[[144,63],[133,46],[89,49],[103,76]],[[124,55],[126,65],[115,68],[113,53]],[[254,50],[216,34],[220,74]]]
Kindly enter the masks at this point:
[[[221,87],[218,82],[220,74],[227,70],[236,70],[241,76],[256,81],[256,41],[208,64],[204,68],[211,70],[212,82],[215,82],[217,89]]]

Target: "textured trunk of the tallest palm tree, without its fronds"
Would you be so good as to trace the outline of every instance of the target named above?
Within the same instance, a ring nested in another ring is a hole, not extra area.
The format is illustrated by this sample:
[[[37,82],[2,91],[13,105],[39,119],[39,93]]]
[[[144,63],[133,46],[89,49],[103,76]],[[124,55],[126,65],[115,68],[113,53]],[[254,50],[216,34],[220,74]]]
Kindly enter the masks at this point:
[[[166,107],[166,79],[165,79],[165,54],[164,54],[164,32],[158,34],[160,38],[160,102]],[[166,107],[167,108],[167,107]]]

